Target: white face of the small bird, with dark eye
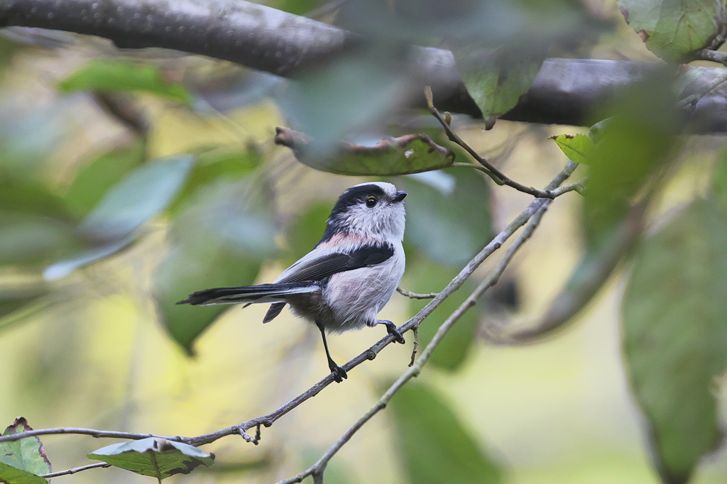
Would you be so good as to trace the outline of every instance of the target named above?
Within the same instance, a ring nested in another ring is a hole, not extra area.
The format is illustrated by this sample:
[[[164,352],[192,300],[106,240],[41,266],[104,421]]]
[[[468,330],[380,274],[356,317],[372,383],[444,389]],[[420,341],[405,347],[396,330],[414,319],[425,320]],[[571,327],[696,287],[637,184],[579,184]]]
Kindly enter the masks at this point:
[[[376,185],[381,191],[371,191],[348,206],[340,214],[343,224],[363,235],[403,240],[406,211],[402,200],[406,194],[386,182],[361,183],[350,190],[366,185]]]

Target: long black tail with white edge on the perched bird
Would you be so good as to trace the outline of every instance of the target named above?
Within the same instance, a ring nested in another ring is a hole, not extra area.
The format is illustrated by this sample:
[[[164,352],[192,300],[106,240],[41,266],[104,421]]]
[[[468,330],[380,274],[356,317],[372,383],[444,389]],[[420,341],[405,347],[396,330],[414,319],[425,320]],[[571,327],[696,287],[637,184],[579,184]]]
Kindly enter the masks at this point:
[[[258,286],[217,287],[190,294],[177,304],[241,304],[243,302],[286,302],[290,294],[305,294],[318,289],[310,281],[294,283],[260,284]]]

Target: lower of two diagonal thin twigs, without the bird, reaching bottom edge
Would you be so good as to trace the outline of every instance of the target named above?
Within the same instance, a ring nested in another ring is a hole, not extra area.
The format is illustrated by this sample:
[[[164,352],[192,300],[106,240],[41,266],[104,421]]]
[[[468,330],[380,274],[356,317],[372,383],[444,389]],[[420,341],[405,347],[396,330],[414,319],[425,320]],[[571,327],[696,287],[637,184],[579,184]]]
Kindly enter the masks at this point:
[[[512,246],[510,246],[510,249],[507,249],[507,252],[505,253],[505,257],[502,258],[502,261],[499,262],[497,267],[488,275],[487,278],[485,278],[484,281],[482,281],[477,289],[473,291],[472,294],[470,294],[469,297],[465,300],[465,302],[462,302],[462,304],[459,305],[457,310],[455,310],[451,315],[449,315],[449,318],[447,318],[441,326],[439,326],[437,332],[433,336],[431,342],[427,344],[427,347],[425,347],[424,351],[422,352],[422,355],[419,356],[419,360],[417,360],[417,363],[414,363],[414,365],[409,368],[403,375],[401,375],[396,382],[394,382],[389,389],[385,392],[384,395],[382,395],[381,398],[377,401],[377,403],[372,406],[369,411],[366,412],[363,416],[361,416],[360,419],[356,421],[355,424],[353,424],[341,437],[339,440],[334,443],[334,445],[329,448],[326,453],[324,453],[323,456],[321,456],[321,459],[318,459],[315,464],[313,464],[311,467],[308,467],[308,469],[305,469],[305,471],[300,472],[300,474],[294,475],[293,477],[290,477],[289,479],[281,480],[278,482],[278,484],[293,484],[293,483],[300,483],[305,477],[308,477],[309,475],[312,476],[321,476],[323,475],[324,470],[326,469],[326,466],[328,465],[329,461],[332,459],[332,457],[340,451],[340,449],[348,443],[348,441],[353,437],[356,432],[358,432],[358,429],[361,429],[361,427],[364,427],[364,424],[366,422],[369,422],[371,418],[373,418],[374,415],[379,413],[383,408],[387,406],[387,403],[390,402],[391,398],[395,395],[398,390],[401,389],[409,380],[412,378],[419,376],[419,374],[422,371],[422,368],[427,364],[427,361],[429,358],[431,358],[433,351],[438,347],[438,345],[442,342],[444,339],[444,336],[446,336],[449,329],[454,326],[454,323],[457,323],[457,320],[459,318],[462,318],[462,315],[467,312],[467,310],[470,309],[470,307],[473,307],[477,300],[484,294],[484,292],[494,286],[497,281],[500,278],[500,275],[502,275],[503,272],[505,272],[505,268],[507,265],[510,264],[510,261],[513,259],[513,256],[515,256],[515,252],[518,251],[518,249],[523,246],[523,243],[525,243],[530,236],[533,234],[536,227],[539,225],[540,220],[542,219],[542,216],[545,214],[545,211],[547,210],[548,206],[550,206],[550,203],[552,201],[548,200],[545,201],[545,203],[541,203],[534,214],[532,214],[532,219],[529,222],[528,226],[525,230],[523,230],[523,233],[515,240]],[[523,212],[523,214],[526,214],[527,210]],[[522,215],[522,214],[521,214]]]

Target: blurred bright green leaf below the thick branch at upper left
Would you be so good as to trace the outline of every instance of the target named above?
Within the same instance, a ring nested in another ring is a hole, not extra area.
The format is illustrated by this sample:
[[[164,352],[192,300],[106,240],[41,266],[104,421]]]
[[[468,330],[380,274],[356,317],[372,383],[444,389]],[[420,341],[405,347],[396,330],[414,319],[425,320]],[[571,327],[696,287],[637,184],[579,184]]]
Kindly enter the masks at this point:
[[[158,65],[119,60],[92,60],[60,81],[58,88],[63,92],[149,92],[184,104],[190,104],[193,99],[182,84],[165,81]]]

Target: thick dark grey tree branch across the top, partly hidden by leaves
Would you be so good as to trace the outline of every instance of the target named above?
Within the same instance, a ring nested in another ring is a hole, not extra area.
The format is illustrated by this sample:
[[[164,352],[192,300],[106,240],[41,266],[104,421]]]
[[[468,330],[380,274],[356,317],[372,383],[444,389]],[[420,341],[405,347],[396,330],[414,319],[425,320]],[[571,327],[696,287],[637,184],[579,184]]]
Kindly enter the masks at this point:
[[[331,25],[243,0],[4,0],[0,26],[9,25],[86,33],[111,39],[119,47],[177,49],[285,77],[331,60],[361,41]],[[480,114],[459,78],[451,52],[418,47],[411,53],[411,62],[420,81],[412,92],[432,86],[441,110]],[[529,92],[502,118],[588,124],[588,116],[603,100],[660,66],[657,62],[548,59]],[[720,72],[721,68],[707,69],[694,82],[695,89]],[[423,96],[414,102],[426,107]],[[722,85],[696,104],[691,113],[697,121],[693,129],[727,132],[726,108],[727,86]]]

